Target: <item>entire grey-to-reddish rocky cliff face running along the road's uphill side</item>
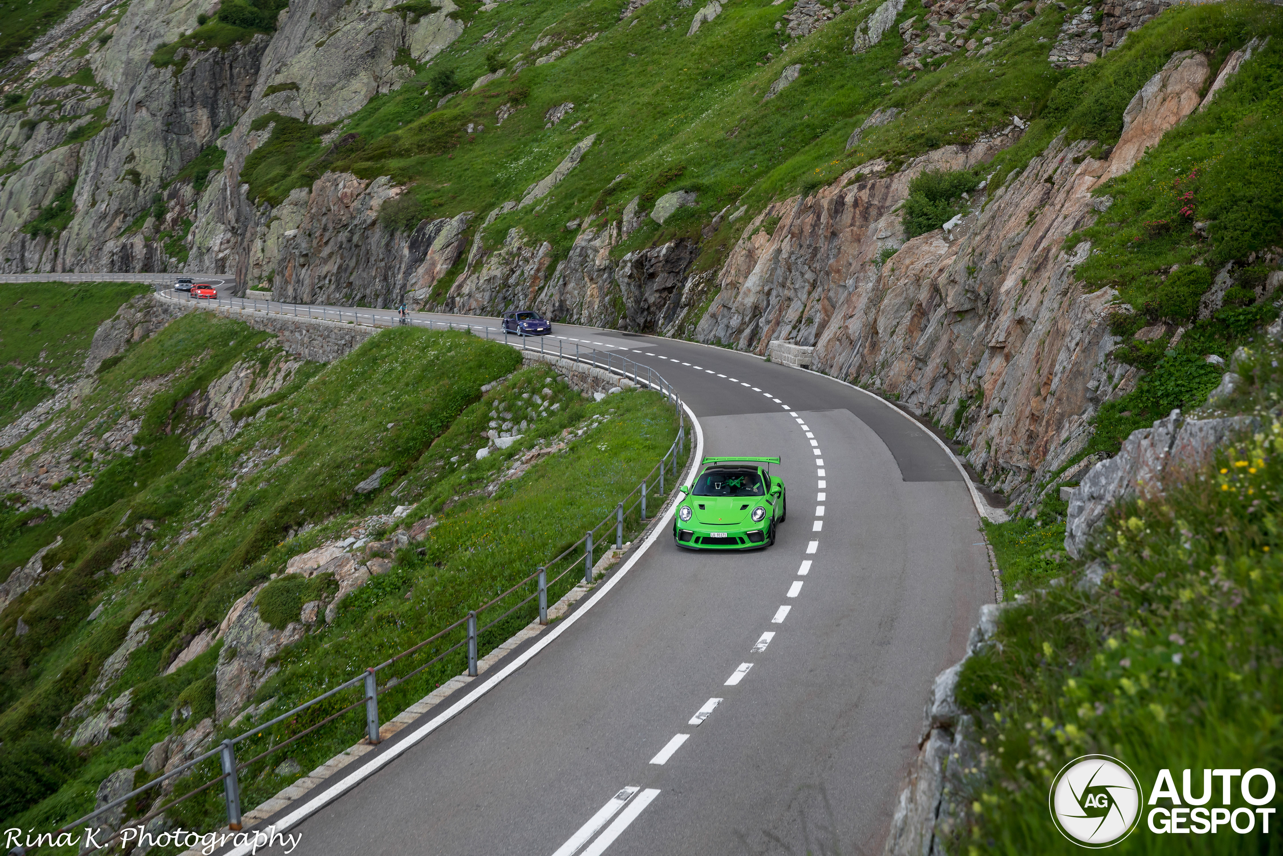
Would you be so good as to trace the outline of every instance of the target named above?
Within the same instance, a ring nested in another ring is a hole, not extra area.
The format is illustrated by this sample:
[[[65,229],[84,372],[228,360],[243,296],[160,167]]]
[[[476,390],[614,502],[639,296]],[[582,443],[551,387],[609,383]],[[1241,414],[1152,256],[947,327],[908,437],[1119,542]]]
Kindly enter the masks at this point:
[[[1100,32],[1105,53],[1161,6],[1109,6],[1101,27],[1083,12],[1066,19],[1049,50],[1064,55],[1062,64],[1084,64]],[[405,189],[346,172],[327,172],[276,205],[249,198],[241,167],[272,130],[253,130],[255,119],[275,113],[321,124],[352,116],[411,77],[407,55],[426,62],[458,39],[464,24],[457,12],[449,0],[417,18],[386,0],[302,0],[281,13],[271,36],[225,51],[181,47],[172,64],[158,67],[153,51],[192,30],[195,6],[136,0],[123,12],[78,10],[82,35],[63,32],[50,42],[27,80],[89,69],[92,82],[64,83],[28,99],[35,107],[26,113],[0,114],[0,137],[8,135],[10,146],[3,157],[18,164],[0,186],[4,270],[186,267],[232,273],[239,287],[271,281],[275,295],[291,302],[405,300],[421,308],[444,298],[446,309],[463,313],[532,304],[571,322],[690,335],[756,353],[771,341],[812,347],[813,368],[940,422],[957,421],[970,462],[1017,501],[1078,454],[1097,408],[1134,384],[1135,372],[1109,358],[1116,343],[1103,318],[1115,295],[1083,291],[1074,267],[1091,246],[1066,253],[1064,239],[1109,204],[1093,189],[1130,169],[1198,107],[1210,73],[1203,55],[1178,54],[1155,74],[1105,159],[1088,157],[1089,141],[1057,139],[1002,186],[978,190],[947,230],[905,240],[899,205],[908,182],[924,169],[985,163],[1020,139],[1023,122],[898,168],[869,162],[813,194],[776,201],[744,223],[716,271],[693,272],[701,252],[694,236],[618,249],[644,218],[663,223],[695,204],[695,194],[680,191],[653,204],[638,196],[617,219],[567,225],[577,231],[561,259],[521,228],[509,228],[498,246],[485,235],[503,213],[525,205],[539,213],[600,148],[593,148],[597,133],[484,216],[393,230],[378,214]],[[83,36],[95,32],[83,30],[95,15],[114,21],[105,46]],[[948,50],[990,49],[960,45]],[[916,50],[906,42],[910,62]],[[62,107],[49,109],[58,99]],[[54,112],[73,121],[54,122]],[[897,121],[876,116],[875,124]],[[76,127],[99,121],[104,130],[74,141]],[[177,176],[209,146],[225,153],[223,167],[201,177],[198,193],[192,177]],[[68,193],[74,217],[60,235],[23,231]],[[727,214],[734,221],[743,209],[716,214],[704,236]]]

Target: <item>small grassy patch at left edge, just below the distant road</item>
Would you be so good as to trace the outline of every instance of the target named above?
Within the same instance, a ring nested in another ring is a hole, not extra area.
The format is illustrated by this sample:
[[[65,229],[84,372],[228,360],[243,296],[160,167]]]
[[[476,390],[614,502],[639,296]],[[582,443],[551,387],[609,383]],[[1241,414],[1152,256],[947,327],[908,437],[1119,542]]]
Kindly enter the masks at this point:
[[[74,375],[94,331],[146,286],[104,282],[0,285],[0,427]]]

